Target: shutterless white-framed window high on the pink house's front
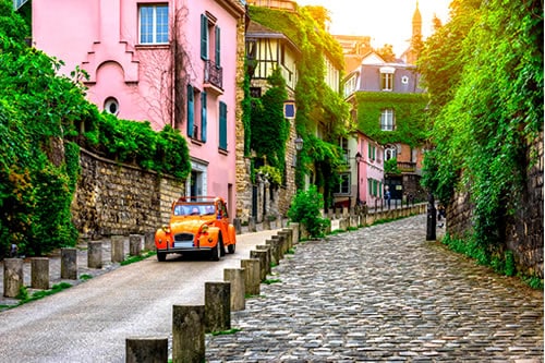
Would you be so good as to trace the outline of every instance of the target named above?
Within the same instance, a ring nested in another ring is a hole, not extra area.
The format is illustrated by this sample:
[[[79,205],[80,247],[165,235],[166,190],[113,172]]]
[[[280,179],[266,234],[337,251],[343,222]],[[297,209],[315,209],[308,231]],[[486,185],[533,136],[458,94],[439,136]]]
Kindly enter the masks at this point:
[[[140,7],[140,43],[168,44],[169,8],[168,5]]]

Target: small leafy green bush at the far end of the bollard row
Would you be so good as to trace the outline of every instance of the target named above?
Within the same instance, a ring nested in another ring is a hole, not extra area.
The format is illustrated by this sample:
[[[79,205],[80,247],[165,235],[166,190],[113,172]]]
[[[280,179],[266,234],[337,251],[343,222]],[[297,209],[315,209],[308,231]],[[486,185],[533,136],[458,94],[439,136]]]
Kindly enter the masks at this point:
[[[311,237],[324,237],[330,221],[320,217],[323,207],[323,195],[317,192],[316,185],[311,185],[307,191],[298,192],[291,202],[288,217],[293,222],[304,225]]]

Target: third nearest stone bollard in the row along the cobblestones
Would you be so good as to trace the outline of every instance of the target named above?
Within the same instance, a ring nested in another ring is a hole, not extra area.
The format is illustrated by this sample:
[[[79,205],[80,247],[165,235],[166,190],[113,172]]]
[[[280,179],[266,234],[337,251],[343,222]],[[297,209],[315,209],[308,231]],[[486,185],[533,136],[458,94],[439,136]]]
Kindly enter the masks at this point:
[[[231,283],[205,282],[205,332],[231,328]]]

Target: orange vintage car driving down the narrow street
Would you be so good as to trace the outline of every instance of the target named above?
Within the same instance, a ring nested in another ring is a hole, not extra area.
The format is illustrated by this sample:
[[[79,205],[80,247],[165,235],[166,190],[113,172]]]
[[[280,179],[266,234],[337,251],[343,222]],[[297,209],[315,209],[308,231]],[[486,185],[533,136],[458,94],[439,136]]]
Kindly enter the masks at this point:
[[[172,203],[170,223],[155,232],[157,259],[169,253],[205,252],[219,261],[234,253],[237,233],[229,222],[227,205],[221,197],[182,196]]]

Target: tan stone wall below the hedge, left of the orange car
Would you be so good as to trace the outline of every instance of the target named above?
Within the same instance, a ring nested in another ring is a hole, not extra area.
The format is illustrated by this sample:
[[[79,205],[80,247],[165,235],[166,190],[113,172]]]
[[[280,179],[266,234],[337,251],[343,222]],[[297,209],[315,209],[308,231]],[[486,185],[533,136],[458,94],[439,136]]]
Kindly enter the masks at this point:
[[[82,237],[153,232],[167,223],[184,185],[169,177],[81,150],[72,220]]]

